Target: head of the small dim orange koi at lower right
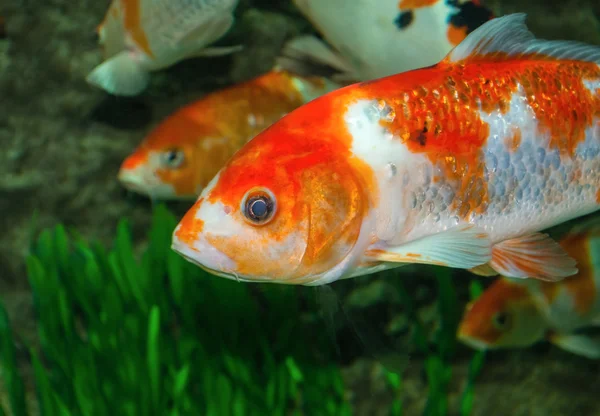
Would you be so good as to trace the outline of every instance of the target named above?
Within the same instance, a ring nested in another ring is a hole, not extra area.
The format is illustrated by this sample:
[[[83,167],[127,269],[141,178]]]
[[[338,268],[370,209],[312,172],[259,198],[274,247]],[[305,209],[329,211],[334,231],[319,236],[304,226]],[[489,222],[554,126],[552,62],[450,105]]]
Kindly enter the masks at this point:
[[[476,349],[525,347],[542,339],[547,326],[527,284],[495,281],[467,305],[458,338]]]

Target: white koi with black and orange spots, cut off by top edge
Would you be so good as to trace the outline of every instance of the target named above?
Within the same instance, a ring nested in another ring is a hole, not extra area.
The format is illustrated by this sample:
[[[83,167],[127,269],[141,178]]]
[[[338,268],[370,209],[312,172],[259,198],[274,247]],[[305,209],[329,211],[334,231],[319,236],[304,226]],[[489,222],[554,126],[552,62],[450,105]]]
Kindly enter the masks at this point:
[[[327,64],[339,79],[365,81],[433,65],[493,13],[479,0],[294,0],[329,45],[290,42],[279,62]],[[335,49],[335,51],[334,51]]]

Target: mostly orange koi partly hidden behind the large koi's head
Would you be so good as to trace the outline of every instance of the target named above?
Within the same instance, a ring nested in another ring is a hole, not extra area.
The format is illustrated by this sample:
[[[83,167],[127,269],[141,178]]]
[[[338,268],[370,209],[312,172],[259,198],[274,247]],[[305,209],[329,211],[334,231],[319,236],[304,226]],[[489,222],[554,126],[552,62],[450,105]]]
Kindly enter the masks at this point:
[[[274,69],[195,101],[159,124],[125,159],[127,189],[158,199],[195,199],[248,140],[284,114],[339,86]]]

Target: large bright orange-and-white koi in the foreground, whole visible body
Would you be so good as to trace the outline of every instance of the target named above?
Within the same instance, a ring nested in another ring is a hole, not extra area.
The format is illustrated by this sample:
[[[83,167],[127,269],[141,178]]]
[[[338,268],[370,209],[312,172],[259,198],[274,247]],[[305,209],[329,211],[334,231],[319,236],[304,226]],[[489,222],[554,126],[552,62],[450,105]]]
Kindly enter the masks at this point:
[[[600,208],[600,48],[493,19],[440,63],[305,104],[240,149],[172,247],[244,281],[407,263],[561,280],[546,234]]]

